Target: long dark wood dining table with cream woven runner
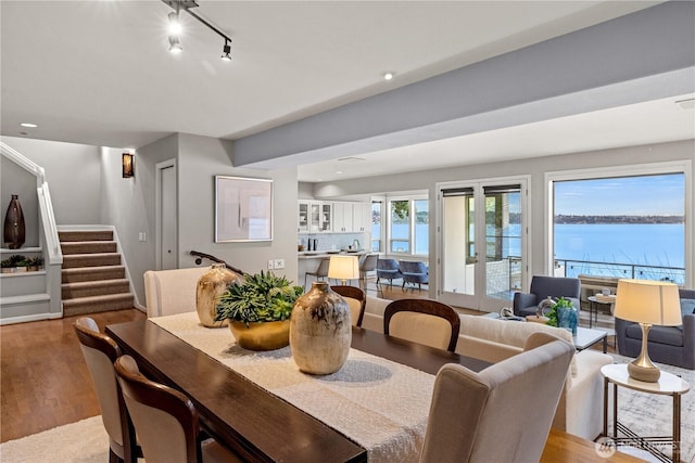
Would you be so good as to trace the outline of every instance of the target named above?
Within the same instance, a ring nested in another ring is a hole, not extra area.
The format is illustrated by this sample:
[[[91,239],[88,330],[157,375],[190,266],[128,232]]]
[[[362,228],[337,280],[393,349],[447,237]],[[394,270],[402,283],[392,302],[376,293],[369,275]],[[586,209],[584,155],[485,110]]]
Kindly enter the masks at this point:
[[[143,374],[186,394],[201,427],[258,462],[417,461],[437,372],[490,363],[353,326],[330,375],[299,371],[291,349],[254,352],[195,312],[111,324]]]

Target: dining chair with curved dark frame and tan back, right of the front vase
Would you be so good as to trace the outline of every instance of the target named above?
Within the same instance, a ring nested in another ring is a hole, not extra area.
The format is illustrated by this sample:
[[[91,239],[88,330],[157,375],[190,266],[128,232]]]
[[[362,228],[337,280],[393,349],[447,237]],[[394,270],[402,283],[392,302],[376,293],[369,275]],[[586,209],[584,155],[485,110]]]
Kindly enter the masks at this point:
[[[456,350],[460,318],[456,310],[433,299],[399,299],[383,311],[383,334],[414,343]]]

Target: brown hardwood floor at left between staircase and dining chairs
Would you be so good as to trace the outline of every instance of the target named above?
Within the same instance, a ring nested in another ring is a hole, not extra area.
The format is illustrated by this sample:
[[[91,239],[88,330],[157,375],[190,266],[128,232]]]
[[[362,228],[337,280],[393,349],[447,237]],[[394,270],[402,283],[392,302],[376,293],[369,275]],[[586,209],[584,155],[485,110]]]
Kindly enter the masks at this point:
[[[101,330],[147,318],[137,309],[89,317]],[[77,318],[0,326],[0,441],[100,413],[73,329]]]

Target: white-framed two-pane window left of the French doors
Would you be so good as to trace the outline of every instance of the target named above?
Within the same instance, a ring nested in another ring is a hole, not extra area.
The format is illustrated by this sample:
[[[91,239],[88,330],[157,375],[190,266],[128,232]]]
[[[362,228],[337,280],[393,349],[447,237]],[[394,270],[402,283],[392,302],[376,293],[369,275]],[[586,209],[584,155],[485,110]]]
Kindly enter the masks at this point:
[[[429,200],[426,197],[389,201],[389,253],[427,256],[429,254]]]

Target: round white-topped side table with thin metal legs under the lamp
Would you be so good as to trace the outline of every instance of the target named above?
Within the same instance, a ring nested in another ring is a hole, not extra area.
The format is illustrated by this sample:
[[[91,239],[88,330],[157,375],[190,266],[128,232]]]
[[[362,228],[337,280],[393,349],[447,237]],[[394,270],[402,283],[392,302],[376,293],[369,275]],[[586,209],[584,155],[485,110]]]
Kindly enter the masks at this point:
[[[645,383],[630,377],[628,374],[628,364],[610,364],[601,369],[604,375],[604,436],[610,437],[619,442],[636,442],[646,445],[649,453],[661,461],[668,461],[669,458],[664,454],[656,446],[649,442],[672,443],[673,454],[671,460],[673,463],[681,461],[681,396],[686,394],[691,385],[683,378],[672,373],[661,370],[661,376],[657,383]],[[608,436],[608,384],[612,384],[612,436]],[[637,390],[645,394],[657,394],[662,396],[671,396],[673,398],[673,426],[670,436],[637,436],[627,426],[618,422],[618,386]],[[618,437],[618,430],[626,437]]]

